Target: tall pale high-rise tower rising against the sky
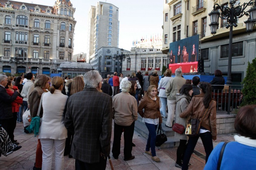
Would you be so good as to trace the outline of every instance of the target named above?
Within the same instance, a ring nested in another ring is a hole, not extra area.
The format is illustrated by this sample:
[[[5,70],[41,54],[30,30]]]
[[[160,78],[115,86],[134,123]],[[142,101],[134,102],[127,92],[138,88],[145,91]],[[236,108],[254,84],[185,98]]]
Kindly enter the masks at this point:
[[[91,6],[88,20],[87,61],[101,47],[118,47],[119,8],[113,4],[98,2]]]

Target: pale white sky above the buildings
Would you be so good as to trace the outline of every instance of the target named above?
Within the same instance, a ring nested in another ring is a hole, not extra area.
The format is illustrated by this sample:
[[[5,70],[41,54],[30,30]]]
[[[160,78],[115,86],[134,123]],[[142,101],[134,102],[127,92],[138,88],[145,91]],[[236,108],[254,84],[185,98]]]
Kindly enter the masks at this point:
[[[56,0],[15,0],[53,6]],[[99,0],[70,0],[76,8],[74,53],[86,53],[88,12]],[[131,50],[132,42],[152,35],[163,36],[163,0],[102,0],[119,8],[119,48]]]

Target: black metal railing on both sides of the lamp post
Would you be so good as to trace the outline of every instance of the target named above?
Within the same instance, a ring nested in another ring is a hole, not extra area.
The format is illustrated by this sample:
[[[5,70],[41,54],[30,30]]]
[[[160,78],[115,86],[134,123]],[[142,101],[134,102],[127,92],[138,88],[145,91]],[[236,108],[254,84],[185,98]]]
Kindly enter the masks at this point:
[[[224,88],[223,88],[224,86]],[[231,98],[228,101],[228,85],[212,85],[213,98],[217,102],[217,112],[227,112],[228,103],[230,103],[230,112],[238,109],[243,99],[243,85],[231,85]],[[222,89],[223,88],[223,89]]]

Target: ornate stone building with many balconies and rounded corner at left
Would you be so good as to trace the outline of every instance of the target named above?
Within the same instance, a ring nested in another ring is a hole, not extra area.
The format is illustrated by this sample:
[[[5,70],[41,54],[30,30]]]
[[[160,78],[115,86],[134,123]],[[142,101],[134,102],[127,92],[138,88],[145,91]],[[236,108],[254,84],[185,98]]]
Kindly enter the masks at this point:
[[[0,0],[0,72],[56,72],[72,60],[75,9],[70,0],[52,7]]]

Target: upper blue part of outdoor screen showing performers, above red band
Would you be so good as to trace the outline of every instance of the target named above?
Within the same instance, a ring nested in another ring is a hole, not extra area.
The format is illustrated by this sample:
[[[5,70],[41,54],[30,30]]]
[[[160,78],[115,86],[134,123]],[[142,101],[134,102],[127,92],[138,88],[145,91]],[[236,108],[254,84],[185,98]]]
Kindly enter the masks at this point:
[[[199,35],[170,43],[169,63],[189,63],[198,61]]]

